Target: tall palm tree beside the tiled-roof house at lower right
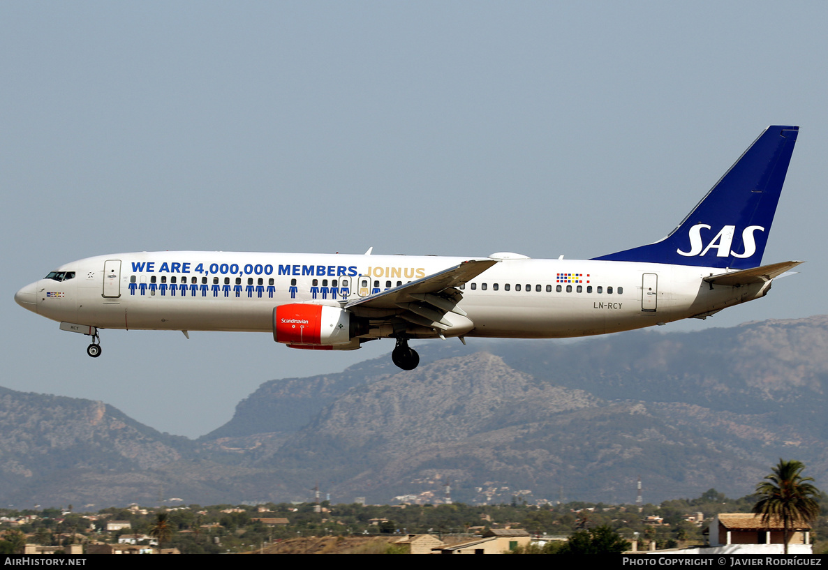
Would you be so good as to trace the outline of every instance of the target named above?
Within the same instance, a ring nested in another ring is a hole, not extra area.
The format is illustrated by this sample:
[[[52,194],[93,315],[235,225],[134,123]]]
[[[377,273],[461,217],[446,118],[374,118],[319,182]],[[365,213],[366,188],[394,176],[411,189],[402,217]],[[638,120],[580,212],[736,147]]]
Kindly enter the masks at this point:
[[[816,519],[820,512],[816,502],[820,491],[807,482],[813,481],[812,477],[802,477],[804,468],[802,462],[779,459],[773,473],[756,486],[760,499],[753,505],[753,513],[762,515],[763,524],[768,524],[772,518],[782,520],[786,554],[788,537],[794,525],[802,526]]]

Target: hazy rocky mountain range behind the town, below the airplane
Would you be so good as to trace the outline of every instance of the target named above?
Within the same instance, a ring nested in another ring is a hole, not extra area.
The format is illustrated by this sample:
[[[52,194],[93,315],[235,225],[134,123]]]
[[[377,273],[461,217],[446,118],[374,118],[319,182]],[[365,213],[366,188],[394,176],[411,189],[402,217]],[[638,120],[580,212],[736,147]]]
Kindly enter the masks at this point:
[[[472,345],[484,352],[473,352]],[[423,345],[339,374],[268,381],[191,441],[101,402],[0,389],[0,501],[97,506],[634,501],[753,490],[779,457],[825,486],[828,316],[698,333]]]

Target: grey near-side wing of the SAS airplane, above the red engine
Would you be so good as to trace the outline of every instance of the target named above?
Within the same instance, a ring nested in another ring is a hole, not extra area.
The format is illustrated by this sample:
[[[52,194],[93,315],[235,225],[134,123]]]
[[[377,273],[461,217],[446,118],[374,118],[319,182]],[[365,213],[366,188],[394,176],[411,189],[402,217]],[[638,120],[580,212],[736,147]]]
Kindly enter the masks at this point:
[[[433,306],[438,306],[439,309],[450,310],[440,307],[438,305],[441,304],[440,300],[431,298],[437,297],[436,294],[440,293],[440,291],[450,289],[452,287],[458,287],[469,282],[470,280],[473,280],[474,277],[477,277],[495,263],[498,263],[498,261],[493,259],[472,259],[469,261],[463,261],[460,265],[450,267],[444,271],[438,271],[432,275],[426,275],[422,279],[412,281],[411,283],[399,285],[398,287],[385,290],[382,293],[375,293],[369,297],[363,297],[363,299],[354,299],[353,301],[349,301],[348,304],[345,304],[344,308],[350,309],[352,307],[359,306],[370,307],[372,309],[398,309],[400,304],[425,301]],[[460,292],[456,291],[455,295],[452,296],[456,296],[458,294],[460,294]],[[443,298],[439,297],[439,299]],[[431,301],[434,301],[434,303]],[[457,311],[460,311],[460,309],[457,309]]]

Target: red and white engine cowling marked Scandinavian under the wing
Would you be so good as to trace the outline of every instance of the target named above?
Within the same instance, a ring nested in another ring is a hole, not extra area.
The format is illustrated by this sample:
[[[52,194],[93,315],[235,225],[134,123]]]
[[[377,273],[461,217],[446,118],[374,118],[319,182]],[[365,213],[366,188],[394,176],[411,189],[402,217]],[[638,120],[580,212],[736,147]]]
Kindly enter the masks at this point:
[[[320,349],[349,344],[350,317],[349,311],[338,307],[321,304],[282,304],[273,309],[273,339],[288,345],[310,345],[307,347]],[[357,346],[359,347],[359,340]]]

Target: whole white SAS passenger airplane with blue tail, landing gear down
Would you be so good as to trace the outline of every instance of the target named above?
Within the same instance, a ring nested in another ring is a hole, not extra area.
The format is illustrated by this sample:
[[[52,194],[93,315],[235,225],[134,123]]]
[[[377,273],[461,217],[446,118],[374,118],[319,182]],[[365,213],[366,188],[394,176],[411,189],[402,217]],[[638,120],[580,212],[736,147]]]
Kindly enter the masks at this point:
[[[762,266],[799,127],[768,127],[658,242],[590,260],[155,251],[72,261],[17,304],[91,337],[105,328],[272,333],[309,350],[393,338],[567,338],[706,319],[768,294],[802,261]],[[643,211],[647,216],[652,212]]]

